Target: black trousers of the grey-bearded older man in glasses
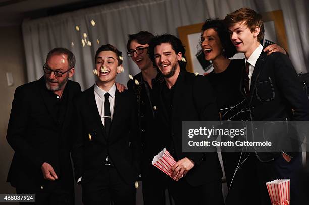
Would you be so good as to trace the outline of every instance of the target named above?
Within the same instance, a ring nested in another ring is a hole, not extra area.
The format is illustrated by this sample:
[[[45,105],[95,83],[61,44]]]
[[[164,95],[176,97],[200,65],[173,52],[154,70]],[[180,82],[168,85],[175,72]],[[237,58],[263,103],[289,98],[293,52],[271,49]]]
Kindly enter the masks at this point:
[[[33,191],[16,188],[17,194],[35,194],[35,202],[20,202],[32,205],[74,205],[73,190],[64,190],[61,187],[52,191]]]

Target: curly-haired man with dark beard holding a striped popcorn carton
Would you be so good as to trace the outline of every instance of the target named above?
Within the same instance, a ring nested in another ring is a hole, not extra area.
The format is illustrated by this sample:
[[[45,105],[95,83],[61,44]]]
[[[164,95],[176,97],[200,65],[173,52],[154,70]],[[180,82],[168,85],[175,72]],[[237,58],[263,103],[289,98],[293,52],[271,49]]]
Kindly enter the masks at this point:
[[[176,164],[165,183],[176,204],[223,204],[222,170],[217,152],[183,152],[183,121],[219,121],[213,89],[207,78],[181,69],[185,49],[175,36],[156,36],[149,44],[149,56],[159,68],[165,82],[153,90],[157,139],[171,153]]]

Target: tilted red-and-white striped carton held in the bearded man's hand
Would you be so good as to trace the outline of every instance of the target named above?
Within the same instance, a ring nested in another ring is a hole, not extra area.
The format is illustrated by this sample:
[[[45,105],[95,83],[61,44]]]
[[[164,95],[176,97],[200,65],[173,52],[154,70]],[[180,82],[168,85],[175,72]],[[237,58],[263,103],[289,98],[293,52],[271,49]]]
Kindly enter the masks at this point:
[[[153,157],[152,161],[153,166],[157,167],[158,169],[166,173],[175,181],[178,181],[176,178],[177,175],[174,177],[172,176],[173,175],[172,167],[175,163],[176,163],[175,159],[165,148],[161,152],[159,152],[155,157]]]

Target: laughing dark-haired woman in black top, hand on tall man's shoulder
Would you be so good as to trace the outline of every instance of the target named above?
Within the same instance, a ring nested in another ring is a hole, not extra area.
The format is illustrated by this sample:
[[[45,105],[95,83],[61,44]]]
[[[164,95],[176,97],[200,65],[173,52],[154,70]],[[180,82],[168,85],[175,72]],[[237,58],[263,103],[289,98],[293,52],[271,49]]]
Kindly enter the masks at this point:
[[[208,19],[202,27],[201,47],[205,59],[213,62],[214,70],[207,75],[216,95],[220,115],[224,121],[247,121],[249,112],[245,97],[240,91],[241,72],[243,72],[244,59],[229,59],[237,52],[230,40],[230,36],[223,20]],[[273,44],[264,51],[282,52],[284,49]],[[251,153],[254,154],[254,153]],[[254,204],[254,186],[248,187],[252,182],[250,176],[254,163],[250,153],[222,152],[223,166],[229,193],[225,204]],[[239,165],[241,165],[239,167]],[[239,167],[237,169],[237,167]],[[236,171],[237,170],[237,171]],[[258,188],[258,187],[256,187]]]

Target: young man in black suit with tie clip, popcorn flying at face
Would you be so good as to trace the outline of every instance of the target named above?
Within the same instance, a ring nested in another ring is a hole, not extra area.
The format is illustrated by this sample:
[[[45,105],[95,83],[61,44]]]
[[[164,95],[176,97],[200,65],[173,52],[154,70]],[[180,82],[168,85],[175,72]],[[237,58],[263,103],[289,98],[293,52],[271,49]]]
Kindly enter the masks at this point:
[[[95,66],[97,81],[76,102],[75,179],[84,204],[135,204],[140,142],[134,95],[115,86],[121,52],[102,45]]]

